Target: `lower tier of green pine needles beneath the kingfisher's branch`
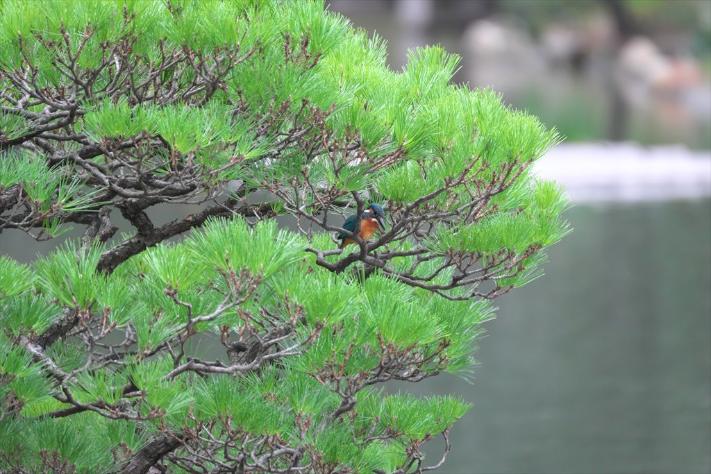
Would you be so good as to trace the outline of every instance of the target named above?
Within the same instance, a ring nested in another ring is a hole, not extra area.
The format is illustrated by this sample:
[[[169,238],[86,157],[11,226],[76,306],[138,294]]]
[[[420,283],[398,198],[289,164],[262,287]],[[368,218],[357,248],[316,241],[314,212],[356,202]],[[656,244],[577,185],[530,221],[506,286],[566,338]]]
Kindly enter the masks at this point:
[[[247,246],[264,249],[264,252],[238,251]],[[279,231],[274,223],[250,229],[244,221],[215,220],[183,244],[159,244],[134,257],[120,271],[102,276],[87,271],[95,266],[101,253],[99,248],[81,251],[68,244],[34,264],[41,293],[30,295],[33,289],[27,286],[7,296],[10,303],[3,311],[4,327],[14,333],[30,329],[41,332],[60,311],[57,305],[47,302],[58,298],[70,308],[106,311],[109,321],[117,323],[119,328],[130,325],[137,335],[139,353],[146,352],[175,335],[185,322],[184,308],[171,303],[163,289],[177,289],[178,296],[189,301],[193,311],[204,313],[201,307],[209,311],[210,304],[215,303],[210,294],[213,279],[209,275],[218,268],[223,271],[243,268],[259,272],[264,279],[266,286],[258,298],[270,311],[276,314],[286,311],[283,301],[288,297],[291,304],[303,308],[307,326],[325,322],[329,332],[338,333],[338,338],[319,338],[311,350],[284,360],[282,370],[266,368],[258,375],[242,377],[240,383],[217,376],[193,382],[183,377],[166,380],[164,376],[173,364],[170,357],[165,356],[133,362],[126,369],[78,372],[68,383],[77,402],[98,401],[104,406],[115,407],[122,400],[124,386],[131,381],[144,390],[139,413],[144,416],[160,414],[176,427],[184,423],[189,406],[196,408],[193,413],[200,420],[228,416],[230,426],[250,433],[290,436],[295,420],[303,417],[309,417],[312,426],[316,426],[319,420],[325,420],[327,413],[336,409],[340,397],[309,374],[319,374],[321,367],[328,367],[331,362],[345,363],[345,375],[372,369],[380,360],[381,344],[430,353],[444,337],[450,341],[446,356],[448,370],[467,370],[471,363],[472,341],[479,333],[476,328],[491,311],[488,304],[481,301],[447,304],[441,298],[431,298],[425,292],[402,286],[384,276],[372,276],[361,285],[356,279],[338,278],[324,270],[313,271],[304,264],[295,264],[302,248],[299,239],[284,230]],[[275,256],[280,257],[275,259]],[[27,271],[12,260],[5,260],[9,269]],[[310,278],[306,278],[307,273]],[[127,301],[134,301],[130,319],[121,316],[129,310],[119,308]],[[20,308],[24,311],[23,317],[19,314]],[[201,331],[209,331],[217,323],[235,324],[236,321],[239,320],[221,318],[203,325]],[[5,387],[4,397],[12,392],[23,405],[32,404],[36,407],[33,410],[39,410],[40,414],[59,409],[43,404],[50,394],[49,387],[44,382],[40,366],[31,363],[31,355],[9,340],[4,339],[2,343],[6,360],[1,371],[16,377]],[[346,357],[349,348],[353,354]],[[337,354],[335,361],[334,353]],[[75,370],[83,364],[82,356],[77,359],[77,352],[72,350],[64,355],[55,352],[51,357],[65,371]],[[427,368],[423,367],[423,370]],[[370,394],[365,400],[369,400],[363,404],[363,414],[367,414],[364,416],[370,417],[367,419],[378,416],[378,426],[408,433],[407,439],[424,438],[442,431],[466,411],[466,406],[459,402],[451,402],[459,406],[458,409],[448,409],[449,399],[427,402],[413,401],[411,397],[382,399],[378,394]],[[378,408],[371,404],[378,404]],[[381,412],[392,415],[387,418]],[[424,418],[423,413],[427,413]],[[64,433],[63,430],[73,429],[74,424],[62,421],[51,426],[50,434],[44,435],[33,425],[33,433],[38,436],[33,441],[38,443],[36,446],[55,450],[77,466],[93,465],[92,458],[82,453],[86,449],[95,453],[96,446],[77,445],[75,436],[68,436],[63,441],[66,444],[61,446],[55,445],[58,441],[51,439],[54,435],[59,436],[56,430]],[[4,429],[10,428],[6,426]],[[91,422],[87,429],[98,428]],[[377,462],[371,456],[376,448],[370,447],[363,452],[348,447],[350,445],[344,441],[352,436],[349,432],[343,429],[316,430],[309,436],[314,436],[312,441],[325,458],[333,462],[349,459],[348,464],[355,468],[390,465],[388,459],[399,459],[400,455],[396,456],[392,451],[395,447],[389,443],[377,448],[377,452],[385,456]],[[115,443],[119,438],[112,439]],[[387,456],[386,452],[389,453]]]

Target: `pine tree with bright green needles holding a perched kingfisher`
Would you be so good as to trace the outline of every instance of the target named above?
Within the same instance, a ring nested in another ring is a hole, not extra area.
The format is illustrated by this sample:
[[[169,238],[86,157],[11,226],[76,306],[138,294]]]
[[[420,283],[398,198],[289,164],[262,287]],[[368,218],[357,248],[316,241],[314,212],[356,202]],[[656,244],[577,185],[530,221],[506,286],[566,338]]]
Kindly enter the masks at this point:
[[[0,3],[0,232],[83,231],[0,257],[0,470],[442,465],[469,404],[383,385],[469,374],[568,232],[559,138],[442,48],[385,59],[319,1]]]

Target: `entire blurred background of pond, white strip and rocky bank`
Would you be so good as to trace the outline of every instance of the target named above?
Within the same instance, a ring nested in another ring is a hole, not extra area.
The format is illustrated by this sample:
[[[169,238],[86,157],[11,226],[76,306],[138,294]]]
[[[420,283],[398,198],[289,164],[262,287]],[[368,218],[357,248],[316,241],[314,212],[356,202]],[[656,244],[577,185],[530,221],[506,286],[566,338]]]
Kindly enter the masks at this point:
[[[390,387],[474,403],[437,472],[710,473],[711,1],[328,4],[393,69],[441,44],[454,82],[567,137],[535,169],[567,186],[575,230],[496,301],[474,383]]]

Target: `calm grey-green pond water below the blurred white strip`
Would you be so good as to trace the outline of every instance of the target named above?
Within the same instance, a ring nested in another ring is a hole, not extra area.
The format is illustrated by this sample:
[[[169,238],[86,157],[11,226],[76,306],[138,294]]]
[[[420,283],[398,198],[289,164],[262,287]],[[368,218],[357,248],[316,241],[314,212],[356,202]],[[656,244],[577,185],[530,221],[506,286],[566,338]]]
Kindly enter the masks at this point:
[[[437,472],[710,472],[711,201],[567,218],[546,275],[496,301],[474,384],[392,387],[474,402]]]

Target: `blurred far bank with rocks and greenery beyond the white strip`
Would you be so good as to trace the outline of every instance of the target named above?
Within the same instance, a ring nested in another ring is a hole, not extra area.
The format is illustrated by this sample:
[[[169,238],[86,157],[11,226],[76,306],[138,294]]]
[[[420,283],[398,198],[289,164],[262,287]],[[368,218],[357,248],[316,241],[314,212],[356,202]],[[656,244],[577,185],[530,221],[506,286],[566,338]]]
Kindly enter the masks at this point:
[[[702,149],[711,143],[711,82],[702,60],[693,59],[706,54],[697,42],[707,39],[708,27],[695,26],[691,18],[672,21],[668,11],[676,6],[649,7],[667,12],[654,14],[661,23],[634,28],[650,40],[621,35],[619,21],[602,0],[560,2],[560,14],[545,18],[536,16],[545,2],[327,3],[356,25],[383,34],[394,70],[405,65],[408,48],[441,43],[463,58],[454,82],[490,86],[513,107],[528,109],[575,139],[635,139]],[[681,2],[679,13],[693,16],[697,7],[691,4],[697,5],[698,18],[711,19],[708,0]],[[629,39],[621,43],[624,38]]]

